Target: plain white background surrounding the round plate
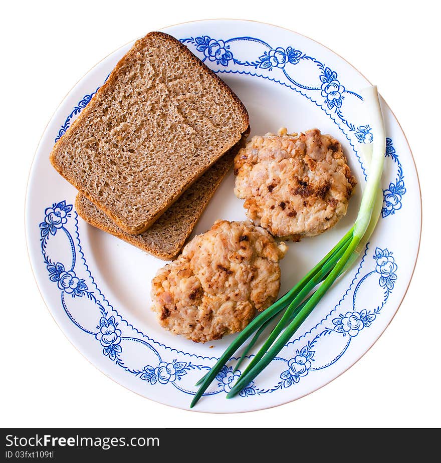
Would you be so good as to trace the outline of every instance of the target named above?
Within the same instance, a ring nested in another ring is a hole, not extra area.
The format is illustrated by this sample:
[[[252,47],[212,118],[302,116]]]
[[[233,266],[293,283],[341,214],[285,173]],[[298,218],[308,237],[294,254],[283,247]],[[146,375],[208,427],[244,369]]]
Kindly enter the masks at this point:
[[[3,5],[0,425],[441,425],[441,73],[438,14],[430,5],[424,1],[336,0],[265,4],[59,0]],[[377,343],[346,373],[309,396],[273,409],[235,415],[201,414],[154,403],[92,366],[49,314],[31,271],[24,233],[25,191],[34,152],[47,122],[72,86],[104,56],[132,39],[175,23],[211,18],[251,19],[292,29],[334,50],[377,84],[407,135],[423,202],[414,277]]]

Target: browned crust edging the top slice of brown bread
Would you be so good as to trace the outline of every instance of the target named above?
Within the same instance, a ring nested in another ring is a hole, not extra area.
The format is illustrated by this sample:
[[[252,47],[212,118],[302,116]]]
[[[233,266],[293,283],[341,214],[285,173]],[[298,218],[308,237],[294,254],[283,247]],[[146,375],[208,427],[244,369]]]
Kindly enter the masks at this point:
[[[77,128],[80,129],[81,124],[83,124],[83,121],[86,121],[89,114],[92,112],[94,106],[96,105],[96,102],[101,98],[101,95],[109,88],[111,87],[114,83],[115,80],[118,76],[119,71],[121,68],[123,68],[126,63],[132,58],[133,54],[136,53],[136,51],[142,47],[142,45],[152,39],[152,38],[161,38],[163,40],[166,40],[168,42],[172,42],[174,45],[176,45],[180,52],[186,55],[192,62],[195,63],[195,65],[204,73],[210,75],[216,82],[224,88],[224,90],[234,99],[236,104],[239,107],[239,111],[241,114],[242,118],[242,126],[240,127],[240,132],[234,135],[234,138],[231,140],[231,144],[229,146],[222,146],[219,147],[218,152],[215,152],[215,154],[212,156],[210,159],[210,163],[204,166],[204,168],[192,172],[191,175],[189,175],[186,178],[185,183],[182,185],[180,188],[180,191],[175,194],[174,196],[170,196],[166,198],[166,200],[163,200],[163,202],[159,205],[156,205],[156,208],[153,210],[153,212],[141,223],[137,225],[130,225],[124,220],[122,220],[120,217],[118,217],[114,211],[109,209],[107,205],[101,201],[98,197],[92,195],[89,191],[86,191],[84,188],[81,187],[81,185],[78,183],[76,178],[72,176],[69,172],[68,169],[63,168],[63,166],[60,164],[58,155],[60,155],[63,151],[63,149],[68,145],[70,141],[70,136],[73,134]],[[143,233],[152,223],[154,223],[157,218],[168,208],[170,207],[178,198],[179,196],[190,186],[192,185],[214,162],[216,162],[220,156],[222,156],[228,149],[230,149],[232,146],[234,146],[242,137],[242,135],[247,131],[249,127],[249,116],[248,112],[241,102],[241,100],[238,98],[238,96],[233,92],[233,90],[222,80],[220,79],[213,71],[211,71],[204,63],[202,63],[201,60],[199,60],[195,55],[193,55],[190,50],[183,45],[181,42],[179,42],[177,39],[174,37],[165,34],[163,32],[150,32],[147,34],[145,37],[137,40],[133,47],[121,58],[121,60],[117,63],[113,71],[110,73],[109,78],[107,81],[103,84],[102,87],[96,92],[96,94],[92,97],[91,101],[89,104],[83,109],[83,111],[80,113],[77,119],[72,123],[72,125],[69,127],[69,129],[66,131],[66,133],[57,141],[55,146],[53,147],[51,153],[50,153],[50,162],[53,165],[53,167],[67,180],[69,181],[73,186],[77,188],[77,190],[86,198],[88,198],[91,202],[93,202],[95,205],[97,205],[100,209],[102,209],[109,217],[112,218],[112,220],[126,233],[132,234],[132,235],[137,235]]]

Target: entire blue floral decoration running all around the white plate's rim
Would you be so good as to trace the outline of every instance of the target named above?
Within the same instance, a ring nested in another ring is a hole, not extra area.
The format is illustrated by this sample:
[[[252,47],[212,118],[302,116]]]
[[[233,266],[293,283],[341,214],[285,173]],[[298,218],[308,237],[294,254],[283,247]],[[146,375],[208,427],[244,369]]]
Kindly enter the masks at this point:
[[[234,44],[244,40],[253,42],[256,46],[262,47],[262,50],[254,58],[238,57],[234,50]],[[213,39],[208,35],[200,35],[181,41],[194,46],[194,51],[199,54],[202,60],[208,60],[219,66],[215,72],[242,72],[239,68],[252,68],[261,73],[272,73],[273,75],[276,72],[282,73],[286,77],[286,82],[272,78],[271,80],[303,92],[302,95],[305,94],[328,115],[332,115],[332,120],[340,128],[342,128],[341,124],[346,127],[347,131],[344,133],[352,146],[356,146],[356,143],[370,143],[372,141],[371,129],[367,124],[351,123],[344,116],[345,98],[360,99],[361,97],[345,87],[335,70],[296,49],[294,44],[288,47],[272,47],[257,38],[241,37],[221,40]],[[316,86],[305,85],[294,79],[293,67],[300,66],[304,62],[316,66],[318,70]],[[249,72],[247,71],[247,73]],[[250,75],[269,78],[267,74]],[[63,135],[74,116],[80,113],[97,90],[86,94],[75,106],[59,130],[56,141]],[[321,98],[321,100],[313,100],[311,94],[317,95],[317,98]],[[385,156],[397,166],[398,174],[396,180],[384,190],[383,217],[393,215],[401,208],[402,197],[406,192],[401,163],[390,138],[387,139]],[[56,287],[60,291],[61,307],[64,312],[85,335],[96,340],[102,355],[107,358],[106,361],[113,362],[127,374],[143,381],[146,387],[173,387],[184,394],[194,394],[195,381],[210,368],[215,359],[197,356],[198,362],[193,363],[187,357],[194,356],[194,354],[177,352],[169,346],[160,344],[137,330],[118,313],[98,289],[89,271],[81,248],[77,215],[72,213],[72,210],[73,205],[67,204],[65,200],[55,201],[44,210],[42,221],[39,223],[43,261],[48,271],[49,280],[56,283]],[[54,256],[52,254],[55,252],[54,249],[49,251],[48,244],[56,236],[65,237],[70,250],[68,254],[61,253]],[[281,352],[281,356],[273,360],[272,367],[278,373],[272,377],[278,378],[278,381],[268,387],[262,385],[261,379],[258,377],[256,382],[250,383],[241,392],[243,398],[275,393],[278,390],[295,387],[304,378],[314,374],[315,371],[328,368],[337,362],[350,348],[351,340],[363,336],[366,330],[375,323],[398,279],[398,264],[395,262],[392,252],[386,247],[375,249],[370,260],[372,264],[368,264],[366,261],[368,253],[369,248],[366,247],[355,277],[337,306],[331,309],[326,317],[309,332],[300,338],[289,341]],[[80,261],[77,256],[81,256]],[[357,294],[363,291],[364,282],[372,279],[376,281],[377,288],[381,290],[381,293],[373,296],[377,298],[377,301],[372,307],[358,307]],[[96,290],[91,289],[94,287]],[[86,296],[84,299],[89,301],[88,310],[96,313],[95,326],[84,326],[79,320],[81,313],[78,313],[76,307],[72,305],[76,297],[83,296]],[[352,307],[348,305],[351,299]],[[345,309],[341,310],[343,305]],[[326,339],[329,337],[336,337],[336,339],[341,340],[341,349],[338,352],[327,350]],[[302,344],[294,349],[293,345],[297,346],[300,342]],[[143,363],[139,366],[128,365],[129,360],[125,357],[128,346],[134,344],[140,346],[140,349],[144,349],[146,359],[148,359],[148,361],[143,361],[141,357],[139,361]],[[177,357],[170,358],[170,353]],[[232,385],[240,375],[239,371],[233,369],[235,360],[234,358],[231,359],[217,374],[216,381],[213,382],[211,389],[206,391],[206,395],[225,394],[231,390]]]

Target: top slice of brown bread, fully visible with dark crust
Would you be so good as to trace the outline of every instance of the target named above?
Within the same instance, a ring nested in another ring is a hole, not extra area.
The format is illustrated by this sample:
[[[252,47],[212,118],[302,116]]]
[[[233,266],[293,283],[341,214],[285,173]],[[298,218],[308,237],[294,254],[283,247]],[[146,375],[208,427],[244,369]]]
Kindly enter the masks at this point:
[[[248,124],[230,87],[178,40],[152,32],[119,61],[50,159],[121,229],[139,234]]]

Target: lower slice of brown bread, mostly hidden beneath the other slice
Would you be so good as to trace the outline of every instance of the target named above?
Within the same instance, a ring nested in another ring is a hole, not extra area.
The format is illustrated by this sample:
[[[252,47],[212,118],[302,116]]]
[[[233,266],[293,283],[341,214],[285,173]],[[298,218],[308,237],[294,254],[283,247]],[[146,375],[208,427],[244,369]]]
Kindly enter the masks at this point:
[[[242,140],[245,141],[245,138],[246,136]],[[131,235],[124,232],[81,193],[78,193],[75,199],[78,215],[91,225],[147,253],[160,259],[171,260],[184,246],[215,190],[233,166],[234,158],[243,145],[242,140],[213,164],[142,234]]]

